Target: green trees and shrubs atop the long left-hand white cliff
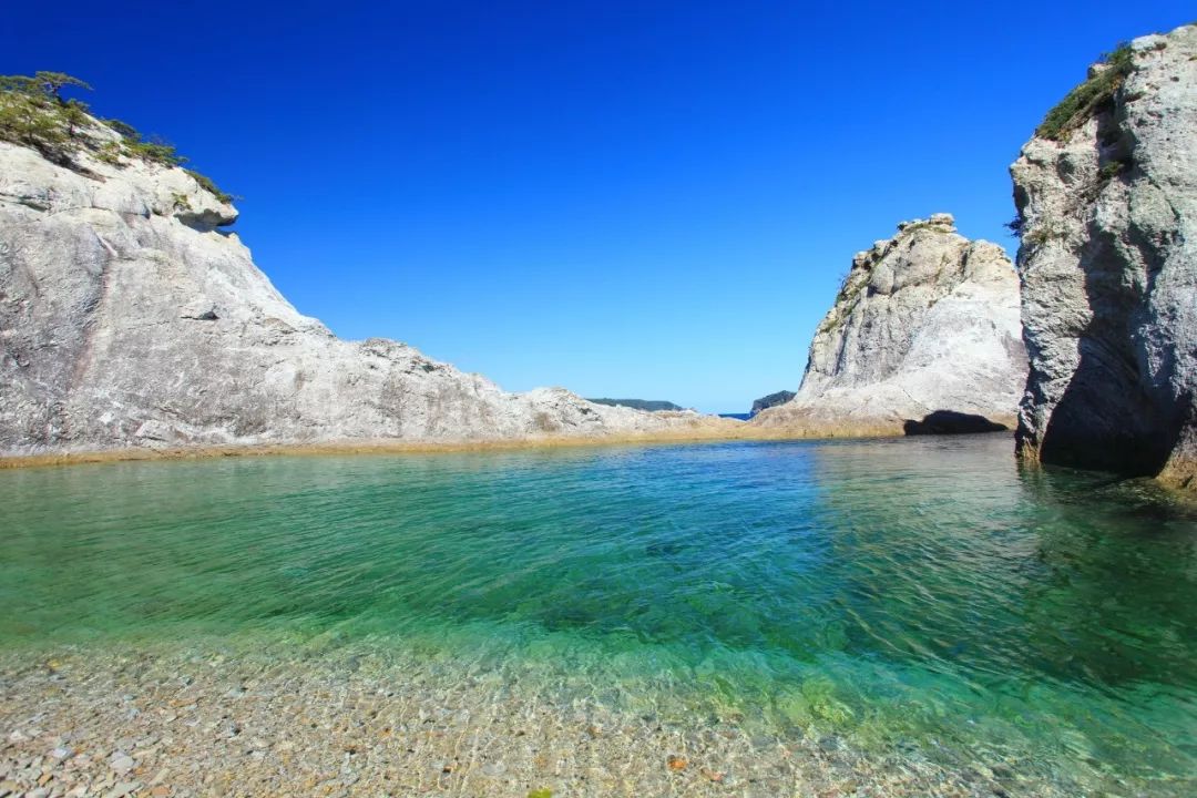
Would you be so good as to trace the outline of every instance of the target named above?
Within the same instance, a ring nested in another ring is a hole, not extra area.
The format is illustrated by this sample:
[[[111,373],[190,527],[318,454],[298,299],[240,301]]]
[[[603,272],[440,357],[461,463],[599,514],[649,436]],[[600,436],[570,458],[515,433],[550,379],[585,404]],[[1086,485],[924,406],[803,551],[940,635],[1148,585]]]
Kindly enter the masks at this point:
[[[187,158],[174,145],[141,134],[121,120],[102,120],[91,115],[86,103],[63,98],[63,89],[91,91],[83,80],[61,72],[28,75],[0,75],[0,141],[10,141],[40,152],[61,166],[86,171],[75,157],[87,152],[96,160],[121,166],[126,160],[144,160],[166,167],[182,166]],[[101,128],[120,135],[111,140]],[[192,169],[184,170],[220,202],[232,201],[212,178]],[[176,207],[181,207],[176,201]]]

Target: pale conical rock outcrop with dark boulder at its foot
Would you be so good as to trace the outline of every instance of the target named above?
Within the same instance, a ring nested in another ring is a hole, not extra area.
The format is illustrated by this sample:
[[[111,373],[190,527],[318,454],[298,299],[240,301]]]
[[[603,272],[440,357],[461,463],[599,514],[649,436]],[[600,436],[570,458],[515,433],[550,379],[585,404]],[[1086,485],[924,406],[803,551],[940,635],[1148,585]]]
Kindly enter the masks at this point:
[[[1013,425],[1025,380],[1009,258],[958,234],[940,213],[903,223],[892,239],[856,255],[815,331],[797,395],[752,424],[809,435],[904,434],[907,422],[948,412]]]

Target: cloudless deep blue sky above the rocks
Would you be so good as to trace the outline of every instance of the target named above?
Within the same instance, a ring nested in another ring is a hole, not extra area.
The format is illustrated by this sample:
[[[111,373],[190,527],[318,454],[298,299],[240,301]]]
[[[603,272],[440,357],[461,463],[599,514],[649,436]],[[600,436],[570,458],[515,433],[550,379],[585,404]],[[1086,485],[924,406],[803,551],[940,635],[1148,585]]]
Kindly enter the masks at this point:
[[[8,2],[244,199],[300,311],[510,390],[711,412],[796,389],[852,254],[937,211],[1013,249],[1007,172],[1119,41],[1191,1]]]

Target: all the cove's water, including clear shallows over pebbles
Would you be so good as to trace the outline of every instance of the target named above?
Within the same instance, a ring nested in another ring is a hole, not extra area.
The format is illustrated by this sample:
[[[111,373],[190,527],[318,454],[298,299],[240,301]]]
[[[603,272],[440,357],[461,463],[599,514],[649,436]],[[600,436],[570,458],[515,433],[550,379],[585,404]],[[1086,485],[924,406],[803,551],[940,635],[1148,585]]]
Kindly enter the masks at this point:
[[[287,738],[394,794],[1197,794],[1197,508],[1011,449],[0,473],[0,723],[260,727],[213,790],[302,790]]]

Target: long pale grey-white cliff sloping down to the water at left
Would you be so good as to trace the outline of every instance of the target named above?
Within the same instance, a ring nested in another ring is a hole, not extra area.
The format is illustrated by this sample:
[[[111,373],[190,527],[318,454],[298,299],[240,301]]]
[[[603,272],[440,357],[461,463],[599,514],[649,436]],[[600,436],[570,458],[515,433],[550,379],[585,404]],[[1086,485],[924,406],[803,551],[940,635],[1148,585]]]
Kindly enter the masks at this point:
[[[116,136],[99,128],[97,135]],[[302,316],[181,169],[0,142],[0,453],[687,430]]]

